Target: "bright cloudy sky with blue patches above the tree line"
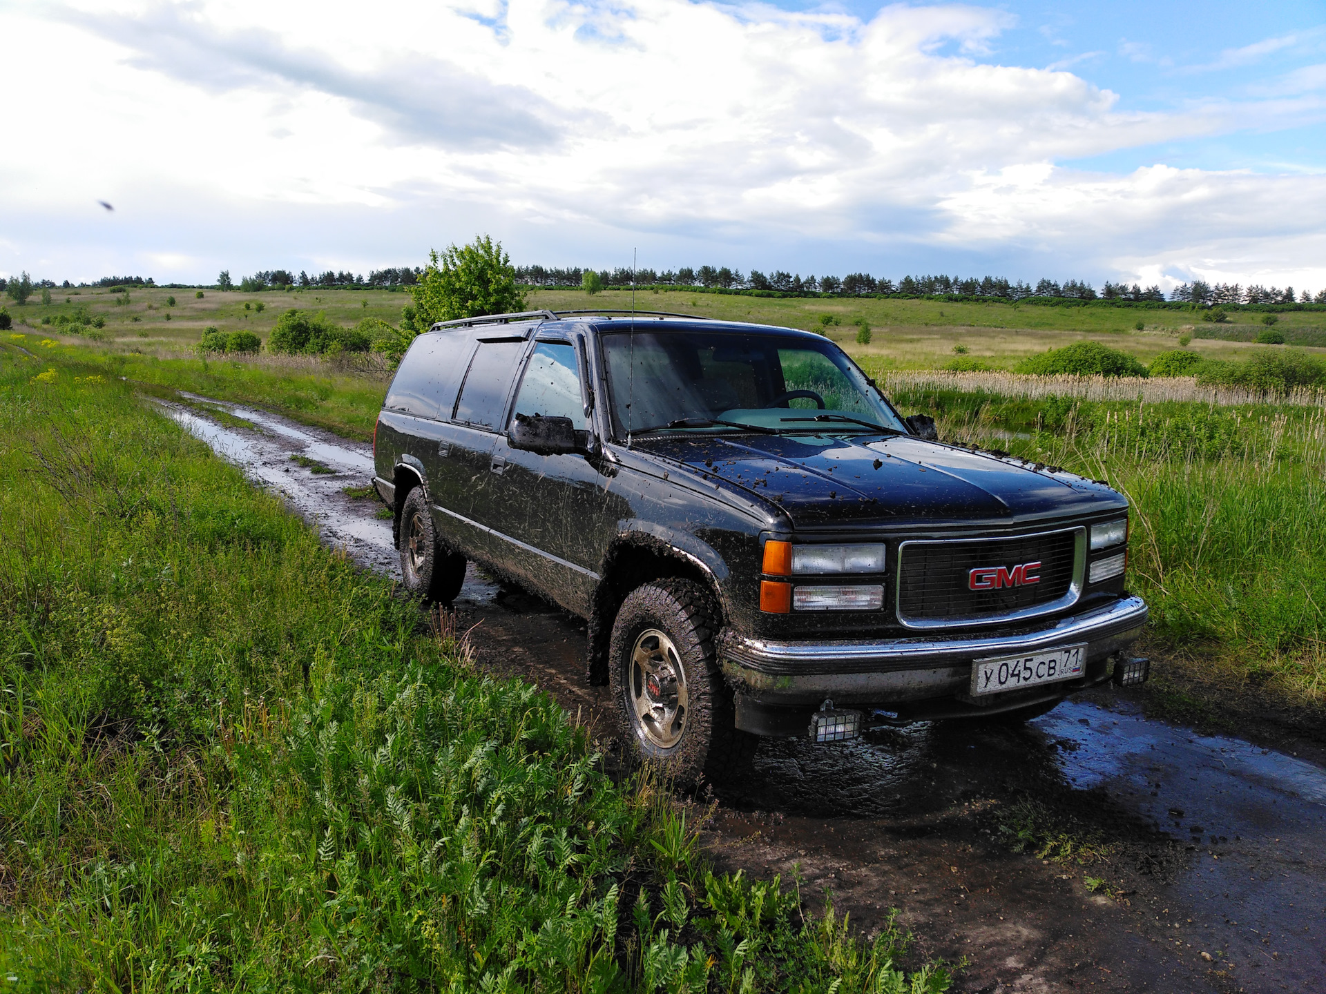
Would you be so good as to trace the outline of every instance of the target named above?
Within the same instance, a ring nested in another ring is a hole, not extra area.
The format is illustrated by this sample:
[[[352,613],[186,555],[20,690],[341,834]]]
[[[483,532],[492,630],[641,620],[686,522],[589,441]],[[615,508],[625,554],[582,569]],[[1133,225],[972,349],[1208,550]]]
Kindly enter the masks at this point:
[[[367,273],[487,233],[1326,289],[1326,0],[0,0],[0,38],[4,276]]]

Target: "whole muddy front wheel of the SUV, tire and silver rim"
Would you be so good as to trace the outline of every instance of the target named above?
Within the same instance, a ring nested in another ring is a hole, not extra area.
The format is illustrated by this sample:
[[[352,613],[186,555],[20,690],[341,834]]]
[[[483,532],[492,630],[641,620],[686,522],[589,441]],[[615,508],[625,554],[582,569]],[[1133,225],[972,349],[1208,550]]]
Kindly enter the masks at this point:
[[[622,741],[679,787],[749,759],[753,736],[732,725],[715,657],[717,612],[693,580],[663,579],[622,602],[609,643],[609,688]]]

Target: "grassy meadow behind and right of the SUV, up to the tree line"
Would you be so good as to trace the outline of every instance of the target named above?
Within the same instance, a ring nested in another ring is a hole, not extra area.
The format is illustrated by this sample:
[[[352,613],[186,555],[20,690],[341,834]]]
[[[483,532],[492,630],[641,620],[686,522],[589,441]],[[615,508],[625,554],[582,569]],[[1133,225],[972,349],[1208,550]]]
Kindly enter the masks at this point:
[[[106,375],[123,376],[149,392],[184,388],[271,407],[349,437],[369,436],[390,379],[381,355],[206,358],[192,349],[196,338],[191,335],[224,321],[247,322],[263,333],[273,313],[289,305],[325,307],[345,323],[361,314],[391,321],[408,302],[407,294],[208,294],[194,298],[187,319],[162,322],[162,309],[154,302],[167,293],[180,302],[182,292],[166,290],[135,290],[130,305],[101,301],[97,306],[103,309],[141,307],[143,319],[107,321],[105,330],[113,334],[99,342],[46,335],[54,325],[41,326],[42,309],[29,305],[24,317],[37,329],[24,341],[37,353],[44,349],[41,341],[50,342],[45,349],[76,353]],[[264,302],[264,309],[245,311],[245,302]],[[530,307],[562,310],[629,309],[630,304],[630,294],[617,290],[594,297],[540,290],[528,301]],[[50,309],[70,306],[77,304],[53,301]],[[1285,349],[1241,341],[1253,337],[1252,325],[1216,325],[1193,311],[1174,310],[777,300],[684,290],[640,290],[636,306],[818,329],[879,378],[904,412],[935,415],[941,437],[1110,480],[1134,498],[1130,583],[1152,604],[1152,648],[1192,673],[1199,696],[1211,702],[1231,685],[1249,681],[1282,692],[1293,702],[1323,701],[1323,630],[1317,606],[1326,603],[1326,578],[1315,566],[1326,551],[1317,513],[1323,473],[1321,425],[1314,420],[1323,406],[1319,392],[1299,391],[1269,403],[1262,395],[1199,387],[1185,378],[1082,380],[939,368],[955,358],[955,346],[967,350],[963,358],[981,358],[1005,370],[1026,355],[1075,341],[1103,342],[1143,362],[1179,347],[1180,334],[1195,335],[1187,349],[1204,358]],[[1276,327],[1286,338],[1310,339],[1322,317],[1285,313]],[[871,326],[869,345],[855,341],[858,319]],[[1143,330],[1127,326],[1138,319]],[[146,334],[126,333],[126,325],[141,326]],[[163,330],[164,325],[170,327]],[[56,345],[61,341],[70,345]],[[1302,351],[1326,355],[1322,349]],[[1236,562],[1238,569],[1217,570],[1220,562]]]

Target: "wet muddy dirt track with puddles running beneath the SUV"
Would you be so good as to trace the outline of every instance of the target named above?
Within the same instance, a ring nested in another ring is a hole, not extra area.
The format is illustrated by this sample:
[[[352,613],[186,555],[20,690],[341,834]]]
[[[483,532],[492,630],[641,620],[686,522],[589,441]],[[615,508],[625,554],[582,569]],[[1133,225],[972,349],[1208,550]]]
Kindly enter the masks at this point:
[[[399,577],[381,505],[343,490],[369,482],[367,445],[202,398],[163,407],[325,541]],[[455,607],[481,667],[538,684],[611,751],[581,620],[473,566]],[[1326,771],[1319,751],[1265,745],[1102,690],[1020,729],[765,741],[696,807],[712,803],[717,865],[798,877],[867,934],[899,909],[918,956],[968,961],[957,990],[1326,990]]]

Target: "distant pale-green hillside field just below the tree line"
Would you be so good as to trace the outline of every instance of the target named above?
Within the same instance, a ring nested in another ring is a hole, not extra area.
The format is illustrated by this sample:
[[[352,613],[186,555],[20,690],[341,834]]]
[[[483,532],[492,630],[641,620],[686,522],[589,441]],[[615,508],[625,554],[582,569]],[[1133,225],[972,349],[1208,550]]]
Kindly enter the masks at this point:
[[[145,355],[171,358],[196,345],[208,326],[223,331],[249,330],[267,339],[276,318],[289,307],[324,311],[345,326],[353,326],[365,317],[394,325],[400,319],[400,309],[410,304],[408,293],[387,290],[204,290],[204,297],[199,300],[192,290],[131,289],[127,302],[123,302],[125,294],[109,290],[84,289],[77,296],[74,293],[57,293],[50,305],[29,301],[24,307],[11,306],[11,313],[33,330],[49,334],[58,327],[42,325],[42,319],[54,319],[61,314],[69,317],[84,307],[90,315],[105,319],[101,333],[118,351],[137,350]],[[174,306],[167,304],[171,297],[175,298]],[[778,300],[684,290],[642,290],[635,294],[635,304],[640,310],[668,310],[806,330],[822,327],[849,353],[878,370],[935,368],[955,358],[955,346],[965,347],[969,358],[996,368],[1008,368],[1034,353],[1083,339],[1122,349],[1142,362],[1176,349],[1181,334],[1192,334],[1195,339],[1189,349],[1211,359],[1237,359],[1253,350],[1272,347],[1236,341],[1240,337],[1252,339],[1262,330],[1262,325],[1237,323],[1250,317],[1235,315],[1232,323],[1213,325],[1200,321],[1195,313],[1172,310],[1042,307],[975,301]],[[578,290],[534,290],[529,294],[528,306],[552,310],[629,309],[631,294],[605,290],[590,297]],[[839,323],[822,325],[825,315]],[[855,341],[858,319],[873,329],[870,345],[862,346]],[[1146,325],[1140,331],[1134,327],[1139,319]],[[1326,313],[1285,313],[1276,327],[1290,338],[1302,333],[1310,341],[1318,341],[1313,333],[1326,334]],[[1205,334],[1227,338],[1204,338]],[[1326,349],[1313,347],[1310,351],[1326,355]]]

